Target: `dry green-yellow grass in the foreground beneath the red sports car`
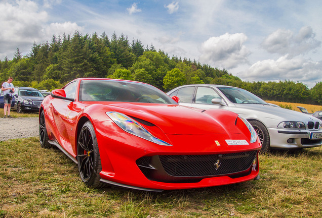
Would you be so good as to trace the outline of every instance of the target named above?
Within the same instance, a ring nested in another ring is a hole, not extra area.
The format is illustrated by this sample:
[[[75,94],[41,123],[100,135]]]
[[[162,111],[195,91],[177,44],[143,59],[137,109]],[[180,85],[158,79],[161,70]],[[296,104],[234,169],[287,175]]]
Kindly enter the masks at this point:
[[[322,149],[260,155],[260,176],[161,193],[91,189],[38,138],[0,142],[0,217],[322,217]],[[135,179],[135,178],[133,178]]]

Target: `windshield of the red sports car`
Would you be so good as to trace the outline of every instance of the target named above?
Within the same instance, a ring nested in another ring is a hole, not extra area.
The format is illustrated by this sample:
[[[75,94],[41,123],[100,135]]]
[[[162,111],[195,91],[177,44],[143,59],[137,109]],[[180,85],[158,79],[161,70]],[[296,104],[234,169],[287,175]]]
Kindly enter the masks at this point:
[[[177,104],[154,86],[130,81],[82,80],[79,101],[125,101]]]

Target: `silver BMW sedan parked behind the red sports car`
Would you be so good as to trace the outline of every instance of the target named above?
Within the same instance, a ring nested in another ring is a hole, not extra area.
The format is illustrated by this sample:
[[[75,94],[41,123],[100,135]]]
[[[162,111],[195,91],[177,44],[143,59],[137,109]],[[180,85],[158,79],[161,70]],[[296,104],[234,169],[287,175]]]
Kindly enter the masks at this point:
[[[273,106],[241,88],[224,85],[184,85],[167,93],[180,104],[205,110],[232,111],[247,119],[262,143],[270,148],[292,149],[322,145],[322,122],[312,116]]]

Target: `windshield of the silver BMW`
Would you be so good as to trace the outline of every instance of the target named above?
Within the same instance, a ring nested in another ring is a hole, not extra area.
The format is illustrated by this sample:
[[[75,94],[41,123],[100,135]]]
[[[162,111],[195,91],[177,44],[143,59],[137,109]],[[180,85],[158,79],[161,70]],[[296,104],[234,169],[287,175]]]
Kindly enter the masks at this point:
[[[218,87],[218,89],[233,103],[267,104],[261,98],[241,88]]]

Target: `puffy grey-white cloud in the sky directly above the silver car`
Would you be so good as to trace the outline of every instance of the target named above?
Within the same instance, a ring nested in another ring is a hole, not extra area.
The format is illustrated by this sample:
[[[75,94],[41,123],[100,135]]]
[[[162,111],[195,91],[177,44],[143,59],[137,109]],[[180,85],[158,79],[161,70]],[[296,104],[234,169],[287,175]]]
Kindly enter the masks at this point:
[[[250,51],[244,45],[246,40],[247,36],[244,33],[226,33],[219,37],[211,37],[202,43],[199,61],[226,69],[247,63]]]

